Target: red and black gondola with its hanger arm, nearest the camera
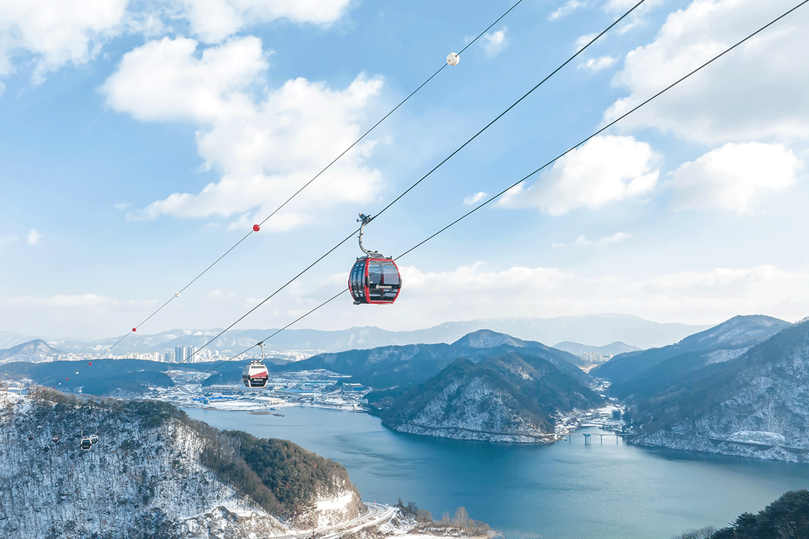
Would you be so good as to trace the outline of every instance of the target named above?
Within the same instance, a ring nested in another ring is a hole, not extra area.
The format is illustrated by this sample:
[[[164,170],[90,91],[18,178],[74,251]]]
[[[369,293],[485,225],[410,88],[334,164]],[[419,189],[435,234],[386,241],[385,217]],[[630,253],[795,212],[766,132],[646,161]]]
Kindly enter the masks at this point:
[[[401,288],[402,279],[396,262],[382,253],[362,247],[362,232],[373,219],[366,214],[359,214],[357,219],[362,222],[359,227],[359,248],[365,256],[354,262],[349,274],[349,290],[354,298],[354,305],[393,303],[399,297]]]

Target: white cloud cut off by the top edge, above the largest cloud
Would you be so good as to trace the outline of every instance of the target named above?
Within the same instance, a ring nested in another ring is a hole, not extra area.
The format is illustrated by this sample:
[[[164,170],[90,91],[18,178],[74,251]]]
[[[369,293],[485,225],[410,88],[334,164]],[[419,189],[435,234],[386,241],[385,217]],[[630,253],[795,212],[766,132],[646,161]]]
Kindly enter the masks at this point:
[[[182,0],[194,35],[208,43],[275,19],[323,26],[340,19],[351,0]]]

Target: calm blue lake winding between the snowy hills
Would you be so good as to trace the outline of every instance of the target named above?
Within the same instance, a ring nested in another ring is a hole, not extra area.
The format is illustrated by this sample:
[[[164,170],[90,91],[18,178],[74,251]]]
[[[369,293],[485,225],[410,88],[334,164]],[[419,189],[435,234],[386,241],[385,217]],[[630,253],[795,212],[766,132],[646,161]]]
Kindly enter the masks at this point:
[[[809,488],[809,465],[638,448],[612,435],[601,444],[598,429],[582,430],[593,434],[590,445],[574,436],[528,446],[404,435],[340,410],[185,411],[337,460],[366,501],[413,501],[436,519],[463,506],[506,539],[670,539]]]

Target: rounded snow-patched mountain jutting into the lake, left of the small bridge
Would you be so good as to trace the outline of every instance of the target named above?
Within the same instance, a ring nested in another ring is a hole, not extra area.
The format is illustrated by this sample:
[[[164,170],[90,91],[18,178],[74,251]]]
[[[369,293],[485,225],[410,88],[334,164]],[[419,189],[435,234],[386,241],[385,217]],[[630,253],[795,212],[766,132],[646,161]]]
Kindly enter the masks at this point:
[[[423,384],[390,396],[367,398],[396,431],[497,442],[550,441],[540,436],[554,432],[557,412],[602,401],[549,360],[520,352],[478,363],[458,359]]]

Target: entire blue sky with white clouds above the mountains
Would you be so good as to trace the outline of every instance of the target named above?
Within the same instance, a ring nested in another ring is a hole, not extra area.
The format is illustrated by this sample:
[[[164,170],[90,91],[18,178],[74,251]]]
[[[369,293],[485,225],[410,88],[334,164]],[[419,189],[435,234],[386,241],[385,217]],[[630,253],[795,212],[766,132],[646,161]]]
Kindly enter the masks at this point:
[[[634,2],[523,0],[446,66],[514,3],[0,0],[0,331],[231,325]],[[398,257],[797,3],[646,0],[363,244]],[[345,294],[294,327],[809,316],[807,27],[804,6],[398,258],[394,305]],[[236,327],[289,324],[361,254],[341,244]]]

